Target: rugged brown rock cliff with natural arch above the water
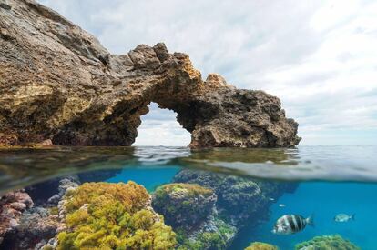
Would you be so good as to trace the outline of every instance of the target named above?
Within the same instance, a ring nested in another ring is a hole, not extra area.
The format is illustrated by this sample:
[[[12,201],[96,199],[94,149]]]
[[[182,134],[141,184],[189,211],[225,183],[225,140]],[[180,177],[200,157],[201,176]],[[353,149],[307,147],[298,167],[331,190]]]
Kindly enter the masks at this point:
[[[277,97],[203,81],[164,44],[111,55],[34,0],[0,5],[0,145],[132,145],[148,104],[175,111],[192,147],[293,146]]]

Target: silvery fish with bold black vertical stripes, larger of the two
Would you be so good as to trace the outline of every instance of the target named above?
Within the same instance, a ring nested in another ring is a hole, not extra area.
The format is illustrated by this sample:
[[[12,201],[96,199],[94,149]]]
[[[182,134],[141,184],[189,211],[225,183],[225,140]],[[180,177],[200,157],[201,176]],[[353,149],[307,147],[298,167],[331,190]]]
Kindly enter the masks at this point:
[[[276,221],[272,233],[276,235],[292,235],[301,232],[306,225],[314,226],[313,215],[306,219],[301,215],[283,215]]]

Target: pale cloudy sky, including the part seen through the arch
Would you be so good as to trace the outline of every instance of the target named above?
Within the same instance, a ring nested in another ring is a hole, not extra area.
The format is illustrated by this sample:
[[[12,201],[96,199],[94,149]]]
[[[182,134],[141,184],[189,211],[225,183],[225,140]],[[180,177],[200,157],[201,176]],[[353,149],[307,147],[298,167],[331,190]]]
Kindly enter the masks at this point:
[[[122,55],[164,42],[203,78],[280,98],[301,145],[377,145],[377,2],[39,0]],[[152,104],[135,145],[189,145]]]

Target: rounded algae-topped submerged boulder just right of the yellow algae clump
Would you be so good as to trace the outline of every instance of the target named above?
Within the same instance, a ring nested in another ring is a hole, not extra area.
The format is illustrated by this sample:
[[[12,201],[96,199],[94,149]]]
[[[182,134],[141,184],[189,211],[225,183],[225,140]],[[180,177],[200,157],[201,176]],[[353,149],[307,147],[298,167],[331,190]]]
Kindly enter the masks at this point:
[[[236,228],[216,210],[217,195],[200,185],[173,183],[159,186],[152,206],[176,232],[178,249],[226,249]]]

